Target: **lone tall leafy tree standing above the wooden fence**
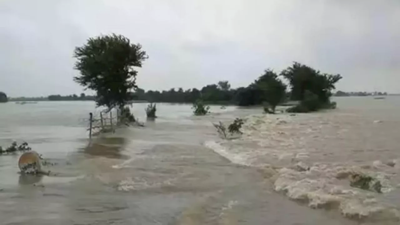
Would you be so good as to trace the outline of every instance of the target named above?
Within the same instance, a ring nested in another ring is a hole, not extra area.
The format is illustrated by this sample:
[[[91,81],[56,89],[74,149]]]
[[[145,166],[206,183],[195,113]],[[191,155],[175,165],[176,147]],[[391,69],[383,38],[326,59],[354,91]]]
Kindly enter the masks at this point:
[[[122,35],[111,34],[89,38],[76,47],[75,69],[80,71],[74,80],[96,91],[97,106],[122,108],[131,100],[130,91],[137,88],[134,67],[142,67],[148,58],[140,44],[132,44]]]

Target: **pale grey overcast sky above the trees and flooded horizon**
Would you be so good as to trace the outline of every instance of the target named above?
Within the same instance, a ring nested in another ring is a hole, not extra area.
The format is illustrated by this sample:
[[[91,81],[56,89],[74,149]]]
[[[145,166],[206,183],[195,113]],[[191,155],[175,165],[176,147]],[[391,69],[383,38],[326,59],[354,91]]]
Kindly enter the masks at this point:
[[[111,32],[148,52],[146,90],[246,86],[296,60],[338,89],[400,92],[399,0],[1,0],[0,91],[82,92],[74,47]]]

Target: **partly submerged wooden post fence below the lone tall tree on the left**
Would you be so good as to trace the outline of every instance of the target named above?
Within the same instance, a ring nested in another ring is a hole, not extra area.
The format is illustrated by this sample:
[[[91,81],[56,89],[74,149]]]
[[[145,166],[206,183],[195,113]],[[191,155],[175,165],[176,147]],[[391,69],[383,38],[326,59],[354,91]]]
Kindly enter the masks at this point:
[[[99,135],[100,133],[115,132],[118,125],[118,109],[110,110],[110,112],[100,112],[97,117],[93,113],[89,113],[89,138]]]

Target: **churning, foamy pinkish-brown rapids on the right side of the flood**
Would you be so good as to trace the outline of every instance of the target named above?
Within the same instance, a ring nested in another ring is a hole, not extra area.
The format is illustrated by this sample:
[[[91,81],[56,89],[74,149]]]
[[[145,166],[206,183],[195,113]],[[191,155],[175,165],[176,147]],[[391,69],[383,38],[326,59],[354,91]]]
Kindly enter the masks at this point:
[[[240,139],[207,141],[205,145],[236,164],[282,168],[272,178],[275,191],[311,208],[334,209],[353,219],[400,219],[396,207],[381,201],[382,195],[397,188],[391,177],[398,173],[398,160],[385,159],[382,163],[376,159],[382,155],[372,155],[373,151],[356,149],[364,155],[350,156],[346,149],[324,148],[324,141],[333,146],[341,144],[351,126],[362,126],[363,121],[337,124],[336,117],[339,116],[252,115],[245,118]],[[346,115],[347,119],[353,117],[356,116]],[[358,157],[360,163],[348,161],[349,157]],[[350,187],[348,176],[354,173],[380,181],[383,194]]]

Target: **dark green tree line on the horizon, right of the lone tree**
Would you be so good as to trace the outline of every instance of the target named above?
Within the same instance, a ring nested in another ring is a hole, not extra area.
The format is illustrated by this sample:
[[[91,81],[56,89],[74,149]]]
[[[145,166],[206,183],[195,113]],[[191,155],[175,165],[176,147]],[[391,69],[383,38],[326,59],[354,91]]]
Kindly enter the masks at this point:
[[[281,79],[283,78],[283,79]],[[236,104],[252,106],[269,104],[275,106],[288,100],[301,101],[307,92],[315,94],[320,102],[328,103],[332,90],[342,76],[321,73],[304,64],[294,62],[280,73],[267,69],[246,87],[231,88],[228,81],[208,84],[201,89],[171,88],[170,90],[148,90],[137,88],[132,93],[133,100],[150,102],[193,103],[202,99],[208,104]],[[289,88],[283,80],[289,83]]]

